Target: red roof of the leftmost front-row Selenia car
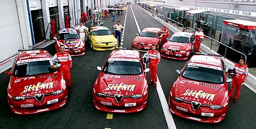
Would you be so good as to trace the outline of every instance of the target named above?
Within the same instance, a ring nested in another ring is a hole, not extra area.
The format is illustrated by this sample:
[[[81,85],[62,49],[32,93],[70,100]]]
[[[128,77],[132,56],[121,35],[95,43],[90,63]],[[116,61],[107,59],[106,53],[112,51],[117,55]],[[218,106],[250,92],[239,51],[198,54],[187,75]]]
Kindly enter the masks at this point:
[[[34,49],[34,50],[27,50],[27,51],[20,51],[18,53],[19,62],[26,62],[32,59],[38,59],[38,61],[48,60],[51,56],[46,50],[43,49]]]

